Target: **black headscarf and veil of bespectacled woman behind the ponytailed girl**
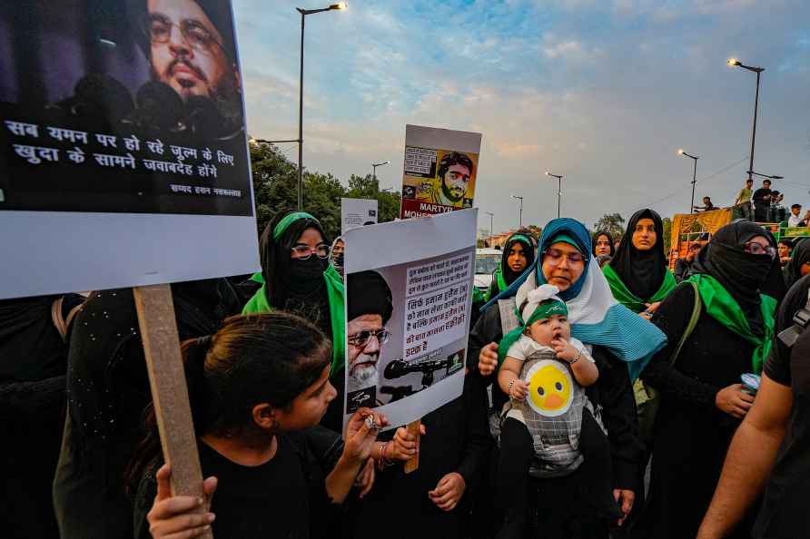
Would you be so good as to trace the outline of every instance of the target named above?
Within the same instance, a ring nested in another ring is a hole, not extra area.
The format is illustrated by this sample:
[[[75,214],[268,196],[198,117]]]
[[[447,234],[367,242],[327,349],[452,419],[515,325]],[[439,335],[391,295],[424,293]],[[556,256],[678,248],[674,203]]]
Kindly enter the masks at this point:
[[[291,249],[304,230],[318,230],[325,243],[329,240],[323,233],[321,223],[310,218],[292,221],[279,239],[274,240],[273,231],[276,226],[292,212],[294,210],[279,212],[264,229],[259,240],[267,301],[275,309],[301,315],[327,335],[331,335],[329,296],[323,279],[323,271],[329,260],[321,260],[315,254],[307,260],[291,259]]]

